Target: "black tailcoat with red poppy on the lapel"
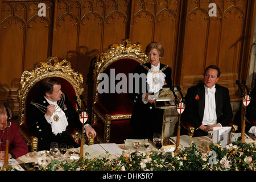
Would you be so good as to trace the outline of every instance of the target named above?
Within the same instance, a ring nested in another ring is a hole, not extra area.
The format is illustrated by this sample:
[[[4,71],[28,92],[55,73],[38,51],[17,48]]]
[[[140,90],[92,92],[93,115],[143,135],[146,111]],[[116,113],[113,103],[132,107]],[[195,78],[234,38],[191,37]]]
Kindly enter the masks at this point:
[[[229,90],[218,84],[215,85],[215,88],[217,123],[221,123],[222,126],[228,126],[233,117]],[[197,95],[199,96],[199,100],[195,98]],[[185,96],[185,106],[185,110],[181,114],[181,119],[191,123],[197,129],[202,125],[204,117],[205,89],[203,83],[188,89]]]

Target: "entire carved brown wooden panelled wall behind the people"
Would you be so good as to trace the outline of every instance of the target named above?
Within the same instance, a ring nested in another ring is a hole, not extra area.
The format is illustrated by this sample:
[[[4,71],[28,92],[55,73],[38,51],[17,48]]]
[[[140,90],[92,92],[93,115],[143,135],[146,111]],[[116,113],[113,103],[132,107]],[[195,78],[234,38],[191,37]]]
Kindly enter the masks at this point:
[[[0,1],[0,104],[18,114],[20,76],[49,56],[71,61],[84,77],[85,98],[92,105],[93,57],[121,39],[163,44],[162,63],[172,68],[175,86],[195,85],[205,67],[221,68],[219,84],[240,93],[236,79],[246,78],[256,15],[254,0],[99,0]],[[38,4],[46,16],[38,16]],[[208,14],[209,3],[217,16]]]

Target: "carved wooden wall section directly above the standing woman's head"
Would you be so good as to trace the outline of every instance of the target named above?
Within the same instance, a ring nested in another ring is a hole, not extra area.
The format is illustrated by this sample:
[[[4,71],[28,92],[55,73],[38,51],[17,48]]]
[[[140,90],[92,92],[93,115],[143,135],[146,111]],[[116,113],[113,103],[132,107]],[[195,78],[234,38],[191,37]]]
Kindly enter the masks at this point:
[[[165,50],[163,64],[176,67],[177,39],[180,26],[180,1],[135,1],[131,40],[145,48],[152,41],[160,42]],[[176,70],[173,69],[173,75]]]

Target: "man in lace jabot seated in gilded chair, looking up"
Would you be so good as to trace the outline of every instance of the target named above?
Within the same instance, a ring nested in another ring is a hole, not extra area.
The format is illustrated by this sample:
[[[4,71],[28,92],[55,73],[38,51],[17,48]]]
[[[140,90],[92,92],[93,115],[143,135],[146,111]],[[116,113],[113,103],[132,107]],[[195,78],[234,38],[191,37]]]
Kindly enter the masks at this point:
[[[68,125],[81,129],[79,114],[61,92],[61,83],[55,78],[46,78],[40,85],[40,96],[27,107],[26,123],[30,132],[38,138],[38,150],[49,150],[51,142],[66,143],[79,147],[71,134]],[[96,137],[96,131],[85,124],[85,133]]]

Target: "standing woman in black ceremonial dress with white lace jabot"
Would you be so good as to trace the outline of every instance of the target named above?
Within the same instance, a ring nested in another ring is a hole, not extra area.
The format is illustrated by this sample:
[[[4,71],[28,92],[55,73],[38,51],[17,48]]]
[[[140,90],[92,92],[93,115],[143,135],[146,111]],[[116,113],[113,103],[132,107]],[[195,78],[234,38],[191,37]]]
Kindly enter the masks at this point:
[[[154,95],[172,85],[172,69],[160,63],[164,57],[162,44],[151,42],[145,52],[149,63],[135,68],[134,75],[138,73],[140,78],[134,77],[133,93],[129,93],[135,104],[130,120],[133,139],[152,139],[154,133],[162,133],[163,109],[154,107]]]

